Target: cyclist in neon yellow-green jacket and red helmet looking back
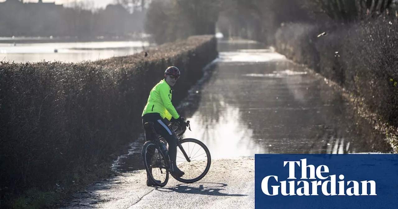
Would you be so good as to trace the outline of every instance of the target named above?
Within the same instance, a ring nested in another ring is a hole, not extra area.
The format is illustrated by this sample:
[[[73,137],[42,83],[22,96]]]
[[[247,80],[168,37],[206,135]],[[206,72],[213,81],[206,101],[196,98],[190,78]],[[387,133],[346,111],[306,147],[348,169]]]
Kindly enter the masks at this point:
[[[179,69],[175,66],[170,66],[164,72],[164,79],[158,82],[152,90],[150,91],[148,102],[146,103],[144,110],[142,111],[142,125],[146,122],[154,123],[154,129],[157,134],[160,134],[164,139],[166,139],[169,144],[169,156],[172,161],[172,174],[176,177],[181,177],[184,172],[179,170],[176,165],[177,156],[177,135],[176,133],[168,127],[169,121],[178,122],[181,127],[185,127],[185,123],[181,116],[177,113],[171,100],[174,84],[176,84],[177,79],[180,76]],[[154,139],[154,135],[151,129],[145,128],[145,138],[146,141]],[[150,165],[152,161],[151,153],[146,153],[147,164]],[[150,168],[151,170],[152,168]],[[147,186],[154,186],[155,184],[150,180],[149,174],[147,173]]]

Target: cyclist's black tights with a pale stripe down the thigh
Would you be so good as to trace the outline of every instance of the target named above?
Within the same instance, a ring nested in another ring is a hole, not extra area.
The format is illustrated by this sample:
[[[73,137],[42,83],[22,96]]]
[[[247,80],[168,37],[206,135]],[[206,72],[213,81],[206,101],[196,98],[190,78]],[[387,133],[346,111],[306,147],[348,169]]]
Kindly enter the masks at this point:
[[[142,125],[146,122],[152,122],[154,124],[154,128],[157,134],[160,134],[164,139],[166,139],[169,144],[169,156],[170,160],[173,163],[173,166],[176,166],[176,157],[177,157],[177,135],[176,133],[168,127],[169,121],[167,119],[162,119],[159,113],[147,113],[142,116]],[[154,135],[151,128],[145,128],[145,138],[146,141],[152,141],[155,139],[156,135]],[[153,154],[153,153],[152,153]],[[147,164],[150,165],[152,161],[152,155],[146,155]]]

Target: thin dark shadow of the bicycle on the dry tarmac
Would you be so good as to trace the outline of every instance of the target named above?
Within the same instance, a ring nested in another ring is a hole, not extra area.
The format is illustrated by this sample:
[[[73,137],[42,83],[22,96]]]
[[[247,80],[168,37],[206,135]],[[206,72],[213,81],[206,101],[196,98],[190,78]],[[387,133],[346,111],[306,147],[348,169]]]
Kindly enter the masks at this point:
[[[199,186],[191,186],[194,184],[199,184]],[[220,186],[203,186],[203,184],[219,184]],[[185,186],[187,185],[187,186]],[[171,192],[175,191],[178,193],[186,193],[186,194],[201,194],[201,195],[215,195],[215,196],[248,196],[243,194],[228,194],[222,193],[221,191],[224,190],[224,187],[228,186],[227,184],[222,183],[213,183],[213,182],[203,182],[203,183],[192,183],[192,184],[178,184],[174,187],[158,187],[156,190],[164,191],[164,192]],[[170,190],[170,191],[166,191]]]

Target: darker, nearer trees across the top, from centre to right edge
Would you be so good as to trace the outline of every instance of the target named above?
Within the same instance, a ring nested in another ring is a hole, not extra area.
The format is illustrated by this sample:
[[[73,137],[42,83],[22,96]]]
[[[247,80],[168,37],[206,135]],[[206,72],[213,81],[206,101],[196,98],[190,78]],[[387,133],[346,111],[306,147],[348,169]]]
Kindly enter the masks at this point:
[[[153,0],[144,28],[158,43],[214,33],[270,41],[287,22],[349,23],[391,13],[394,0]]]

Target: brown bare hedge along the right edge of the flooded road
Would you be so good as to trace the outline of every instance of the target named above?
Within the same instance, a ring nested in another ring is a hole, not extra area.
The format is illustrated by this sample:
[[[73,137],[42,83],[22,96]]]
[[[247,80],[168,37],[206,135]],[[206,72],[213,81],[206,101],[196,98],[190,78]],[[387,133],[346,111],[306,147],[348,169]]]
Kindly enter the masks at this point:
[[[324,31],[327,35],[318,37]],[[358,105],[366,105],[377,115],[372,121],[376,119],[378,125],[397,131],[396,31],[398,21],[389,17],[333,27],[291,23],[275,33],[275,47],[350,92]]]

